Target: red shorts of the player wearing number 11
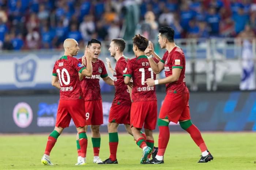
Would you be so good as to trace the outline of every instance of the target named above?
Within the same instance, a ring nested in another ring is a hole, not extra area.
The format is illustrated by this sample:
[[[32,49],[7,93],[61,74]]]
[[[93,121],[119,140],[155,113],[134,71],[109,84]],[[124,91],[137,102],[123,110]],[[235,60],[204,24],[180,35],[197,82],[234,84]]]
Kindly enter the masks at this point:
[[[157,123],[157,101],[132,102],[131,127],[154,130]]]

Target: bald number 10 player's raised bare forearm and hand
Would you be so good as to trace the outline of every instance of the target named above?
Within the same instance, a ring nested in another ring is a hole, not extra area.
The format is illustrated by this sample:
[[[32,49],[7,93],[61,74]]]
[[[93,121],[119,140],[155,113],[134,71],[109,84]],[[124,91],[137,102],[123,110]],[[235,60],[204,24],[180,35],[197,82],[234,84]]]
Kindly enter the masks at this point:
[[[91,64],[91,56],[92,55],[93,54],[90,52],[90,49],[86,46],[85,51],[84,51],[84,57],[82,58],[82,64],[84,65],[86,62],[86,69],[84,69],[81,72],[81,74],[83,74],[84,76],[87,76],[87,77],[91,77],[93,75],[93,66]],[[79,75],[79,79],[80,79],[80,77],[81,76]]]

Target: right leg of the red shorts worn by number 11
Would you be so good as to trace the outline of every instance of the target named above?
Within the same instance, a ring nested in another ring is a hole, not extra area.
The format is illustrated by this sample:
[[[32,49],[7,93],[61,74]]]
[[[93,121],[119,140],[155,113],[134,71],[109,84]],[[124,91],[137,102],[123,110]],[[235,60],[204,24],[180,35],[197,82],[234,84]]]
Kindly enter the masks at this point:
[[[148,101],[147,116],[144,121],[144,128],[154,130],[157,124],[157,101]]]

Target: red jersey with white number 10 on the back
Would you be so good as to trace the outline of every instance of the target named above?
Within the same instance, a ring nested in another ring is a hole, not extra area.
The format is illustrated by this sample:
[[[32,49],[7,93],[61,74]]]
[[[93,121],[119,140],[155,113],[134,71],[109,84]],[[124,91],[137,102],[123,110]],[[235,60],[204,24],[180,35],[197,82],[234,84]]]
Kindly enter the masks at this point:
[[[62,56],[54,64],[52,75],[59,78],[60,99],[75,100],[83,96],[80,86],[78,72],[82,72],[84,67],[78,59],[71,56]]]

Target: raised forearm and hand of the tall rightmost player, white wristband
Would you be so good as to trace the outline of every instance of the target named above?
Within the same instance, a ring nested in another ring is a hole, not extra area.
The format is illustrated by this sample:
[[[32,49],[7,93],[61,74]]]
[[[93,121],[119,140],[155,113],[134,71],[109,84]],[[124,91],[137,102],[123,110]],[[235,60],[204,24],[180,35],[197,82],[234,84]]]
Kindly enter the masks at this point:
[[[158,60],[161,60],[161,58],[155,53],[153,43],[151,43],[151,41],[149,41],[148,44],[149,45],[148,45],[148,47],[146,48],[146,50],[144,52],[145,52],[145,54],[148,58],[150,67],[152,68],[153,72],[155,74],[158,74],[159,72],[161,72],[164,69],[164,63],[162,63],[162,62],[156,63],[153,60],[152,56],[154,56]]]

